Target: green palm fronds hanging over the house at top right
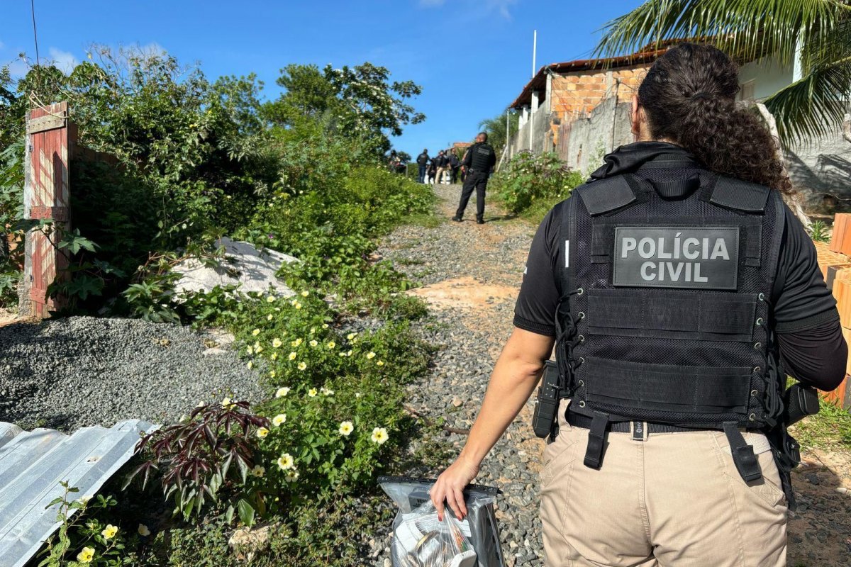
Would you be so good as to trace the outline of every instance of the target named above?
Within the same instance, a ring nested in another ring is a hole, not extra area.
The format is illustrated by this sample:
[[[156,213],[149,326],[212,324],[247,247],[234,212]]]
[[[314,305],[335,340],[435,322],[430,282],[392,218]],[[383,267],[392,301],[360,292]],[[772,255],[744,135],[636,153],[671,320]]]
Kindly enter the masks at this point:
[[[849,0],[649,0],[603,27],[595,56],[707,38],[739,61],[800,58],[802,77],[765,99],[783,145],[843,130],[851,141]],[[796,53],[796,51],[798,53]]]

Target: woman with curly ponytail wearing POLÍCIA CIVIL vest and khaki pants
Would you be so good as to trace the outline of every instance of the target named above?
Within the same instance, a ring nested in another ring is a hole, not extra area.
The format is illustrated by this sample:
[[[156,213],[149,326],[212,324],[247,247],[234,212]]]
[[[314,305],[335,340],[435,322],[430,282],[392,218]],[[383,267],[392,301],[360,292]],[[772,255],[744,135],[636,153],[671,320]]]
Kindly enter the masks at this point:
[[[546,216],[515,330],[467,443],[431,489],[462,490],[557,339],[557,434],[541,470],[546,565],[782,567],[797,401],[848,347],[774,140],[736,105],[736,66],[681,44],[632,101],[637,143]],[[549,380],[546,381],[549,383]]]

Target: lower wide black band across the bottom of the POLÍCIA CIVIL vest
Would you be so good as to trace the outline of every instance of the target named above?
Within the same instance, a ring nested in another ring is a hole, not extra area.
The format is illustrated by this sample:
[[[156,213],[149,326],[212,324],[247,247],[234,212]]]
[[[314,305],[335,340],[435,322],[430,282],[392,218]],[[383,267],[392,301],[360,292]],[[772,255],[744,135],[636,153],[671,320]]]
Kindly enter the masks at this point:
[[[637,411],[744,413],[750,367],[669,366],[586,357],[586,398],[592,405]]]

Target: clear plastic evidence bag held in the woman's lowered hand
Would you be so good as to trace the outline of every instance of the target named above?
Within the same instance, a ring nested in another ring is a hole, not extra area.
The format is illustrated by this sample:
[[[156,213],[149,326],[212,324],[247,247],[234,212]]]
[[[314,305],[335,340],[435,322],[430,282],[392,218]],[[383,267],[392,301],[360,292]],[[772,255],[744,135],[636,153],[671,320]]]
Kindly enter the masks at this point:
[[[498,489],[467,486],[465,519],[446,507],[441,522],[428,494],[434,480],[382,476],[378,481],[399,507],[393,520],[393,567],[505,567],[494,515]]]

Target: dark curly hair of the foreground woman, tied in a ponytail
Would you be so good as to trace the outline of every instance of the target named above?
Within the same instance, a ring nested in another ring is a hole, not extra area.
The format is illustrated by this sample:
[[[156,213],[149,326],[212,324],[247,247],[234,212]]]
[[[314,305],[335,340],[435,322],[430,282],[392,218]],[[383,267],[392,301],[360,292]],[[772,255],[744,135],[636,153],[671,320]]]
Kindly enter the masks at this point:
[[[739,69],[720,49],[681,43],[663,54],[638,88],[654,139],[690,151],[711,171],[794,195],[779,143],[736,104]]]

